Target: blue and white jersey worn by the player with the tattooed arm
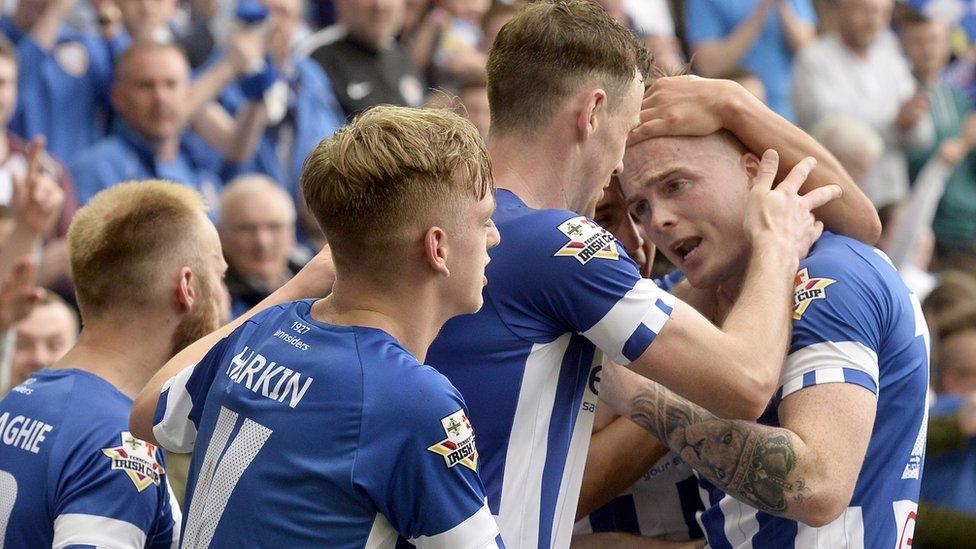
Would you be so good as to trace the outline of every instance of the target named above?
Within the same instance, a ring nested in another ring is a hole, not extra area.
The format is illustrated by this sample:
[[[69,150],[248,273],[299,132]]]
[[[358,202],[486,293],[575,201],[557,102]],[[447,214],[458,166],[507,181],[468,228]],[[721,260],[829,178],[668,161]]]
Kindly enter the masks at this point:
[[[911,546],[925,458],[928,328],[918,299],[883,252],[825,232],[800,262],[793,338],[772,404],[779,425],[790,394],[852,383],[877,395],[874,430],[849,506],[814,528],[757,511],[702,481],[709,545],[860,548]]]

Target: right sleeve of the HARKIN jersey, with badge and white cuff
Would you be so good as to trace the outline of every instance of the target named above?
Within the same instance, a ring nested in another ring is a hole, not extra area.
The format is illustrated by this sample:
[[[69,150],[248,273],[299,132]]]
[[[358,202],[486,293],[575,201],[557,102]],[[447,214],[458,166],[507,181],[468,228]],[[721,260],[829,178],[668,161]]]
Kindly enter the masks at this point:
[[[503,547],[461,396],[433,370],[424,377],[425,388],[364,417],[353,482],[416,547]]]

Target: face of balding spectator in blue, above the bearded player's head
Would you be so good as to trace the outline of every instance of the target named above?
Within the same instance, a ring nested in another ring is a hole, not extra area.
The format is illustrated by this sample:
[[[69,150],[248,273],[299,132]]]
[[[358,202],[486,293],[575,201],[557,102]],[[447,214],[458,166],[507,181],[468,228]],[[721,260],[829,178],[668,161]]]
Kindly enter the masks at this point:
[[[115,103],[136,132],[151,139],[179,135],[189,98],[189,66],[172,49],[144,51],[126,63]]]

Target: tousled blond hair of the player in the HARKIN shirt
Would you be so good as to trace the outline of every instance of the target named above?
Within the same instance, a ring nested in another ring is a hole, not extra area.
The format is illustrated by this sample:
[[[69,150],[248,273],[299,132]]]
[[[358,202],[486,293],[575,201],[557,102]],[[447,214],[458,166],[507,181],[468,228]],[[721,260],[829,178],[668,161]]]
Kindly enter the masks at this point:
[[[493,181],[484,142],[461,116],[380,106],[319,143],[301,188],[337,265],[366,265],[419,236],[418,220],[489,195]]]

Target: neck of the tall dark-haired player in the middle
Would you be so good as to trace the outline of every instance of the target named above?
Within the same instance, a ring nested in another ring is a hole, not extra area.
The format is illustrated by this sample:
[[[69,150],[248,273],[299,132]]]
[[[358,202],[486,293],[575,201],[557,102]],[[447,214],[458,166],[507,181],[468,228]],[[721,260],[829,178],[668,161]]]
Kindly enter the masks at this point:
[[[546,139],[492,137],[488,141],[495,186],[515,193],[535,209],[571,209],[566,188],[577,172],[565,154],[548,147]]]

